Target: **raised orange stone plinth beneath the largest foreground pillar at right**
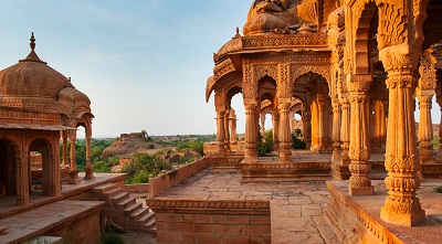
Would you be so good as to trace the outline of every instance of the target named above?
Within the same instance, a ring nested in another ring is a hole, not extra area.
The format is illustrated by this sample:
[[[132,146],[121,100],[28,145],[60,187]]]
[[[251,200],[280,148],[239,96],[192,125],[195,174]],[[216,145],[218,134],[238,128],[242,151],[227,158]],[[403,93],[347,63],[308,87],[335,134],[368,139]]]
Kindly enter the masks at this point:
[[[412,227],[388,224],[380,219],[387,190],[383,181],[372,181],[375,195],[348,194],[348,181],[327,182],[330,203],[325,216],[341,243],[442,243],[442,194],[433,189],[441,180],[423,180],[418,190],[427,219]]]

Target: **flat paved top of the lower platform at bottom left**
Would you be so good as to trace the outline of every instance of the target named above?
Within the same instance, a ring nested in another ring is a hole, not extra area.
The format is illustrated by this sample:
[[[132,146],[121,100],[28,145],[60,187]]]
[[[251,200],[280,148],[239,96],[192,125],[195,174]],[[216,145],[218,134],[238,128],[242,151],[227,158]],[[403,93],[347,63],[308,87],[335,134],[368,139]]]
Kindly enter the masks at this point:
[[[42,230],[51,229],[51,226],[61,222],[67,222],[77,214],[101,208],[104,204],[104,202],[97,201],[60,201],[1,219],[0,225],[8,226],[8,231],[0,236],[0,244],[13,242],[23,236],[29,238],[38,236]]]

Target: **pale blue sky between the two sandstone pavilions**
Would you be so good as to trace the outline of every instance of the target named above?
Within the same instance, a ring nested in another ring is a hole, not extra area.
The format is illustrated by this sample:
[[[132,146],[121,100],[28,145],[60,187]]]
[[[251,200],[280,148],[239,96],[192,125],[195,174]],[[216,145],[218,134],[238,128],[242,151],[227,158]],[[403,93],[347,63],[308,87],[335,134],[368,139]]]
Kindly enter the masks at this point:
[[[28,55],[34,32],[40,59],[91,98],[94,137],[213,134],[212,55],[242,29],[251,2],[1,1],[0,68]]]

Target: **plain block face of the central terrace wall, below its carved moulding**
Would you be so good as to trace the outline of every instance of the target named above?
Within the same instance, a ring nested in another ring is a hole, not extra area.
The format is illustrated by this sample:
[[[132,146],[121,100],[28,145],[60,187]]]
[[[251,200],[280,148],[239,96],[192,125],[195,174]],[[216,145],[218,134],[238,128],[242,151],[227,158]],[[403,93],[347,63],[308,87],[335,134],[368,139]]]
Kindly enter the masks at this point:
[[[156,212],[157,243],[271,243],[270,213]]]

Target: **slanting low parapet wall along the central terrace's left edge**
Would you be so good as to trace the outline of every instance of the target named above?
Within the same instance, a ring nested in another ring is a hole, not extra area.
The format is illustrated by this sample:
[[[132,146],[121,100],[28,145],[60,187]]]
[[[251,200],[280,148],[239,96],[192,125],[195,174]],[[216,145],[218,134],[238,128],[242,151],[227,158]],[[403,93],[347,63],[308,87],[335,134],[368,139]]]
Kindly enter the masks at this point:
[[[176,170],[166,172],[157,178],[149,178],[149,198],[155,198],[156,195],[168,191],[173,185],[179,184],[181,181],[211,166],[211,163],[210,157],[207,157],[190,165],[182,166]]]

